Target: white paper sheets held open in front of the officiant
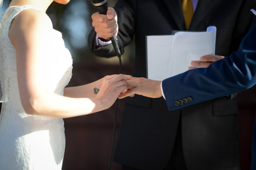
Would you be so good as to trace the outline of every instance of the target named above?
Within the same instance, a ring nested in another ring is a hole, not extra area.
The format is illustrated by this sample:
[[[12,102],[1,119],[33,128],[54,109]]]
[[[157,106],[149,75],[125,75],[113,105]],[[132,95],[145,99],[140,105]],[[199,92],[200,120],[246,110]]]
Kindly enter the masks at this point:
[[[147,36],[146,39],[148,78],[164,80],[187,71],[191,61],[215,53],[216,27],[202,32]]]

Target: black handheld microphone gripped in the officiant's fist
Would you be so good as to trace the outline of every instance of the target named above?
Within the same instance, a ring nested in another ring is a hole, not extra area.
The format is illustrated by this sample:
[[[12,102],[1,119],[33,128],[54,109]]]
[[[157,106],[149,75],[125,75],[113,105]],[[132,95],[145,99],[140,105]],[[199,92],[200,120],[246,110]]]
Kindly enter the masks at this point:
[[[104,15],[107,14],[107,10],[108,10],[107,0],[92,0],[92,4],[94,5],[94,7],[98,10],[98,12],[100,14],[104,14]],[[114,50],[116,51],[117,57],[120,58],[121,53],[120,53],[120,49],[117,44],[116,35],[114,35],[113,37],[110,37],[110,40],[112,41],[112,45],[114,47]]]

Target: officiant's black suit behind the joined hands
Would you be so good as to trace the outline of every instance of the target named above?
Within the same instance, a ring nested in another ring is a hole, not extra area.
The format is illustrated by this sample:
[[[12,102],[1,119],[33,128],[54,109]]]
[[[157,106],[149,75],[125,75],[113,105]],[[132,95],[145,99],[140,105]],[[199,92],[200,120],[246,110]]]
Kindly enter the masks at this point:
[[[256,8],[255,0],[199,0],[189,30],[215,25],[216,55],[228,56],[237,51],[255,23],[251,8]],[[119,0],[115,10],[121,53],[135,34],[133,76],[146,77],[145,36],[186,30],[181,0]],[[95,49],[94,36],[92,30],[88,40],[94,54],[115,55],[112,45]],[[162,170],[173,152],[175,159],[183,150],[188,170],[240,169],[237,114],[236,102],[228,97],[174,111],[168,111],[164,98],[127,98],[114,161],[137,169]],[[178,130],[181,137],[176,139]]]

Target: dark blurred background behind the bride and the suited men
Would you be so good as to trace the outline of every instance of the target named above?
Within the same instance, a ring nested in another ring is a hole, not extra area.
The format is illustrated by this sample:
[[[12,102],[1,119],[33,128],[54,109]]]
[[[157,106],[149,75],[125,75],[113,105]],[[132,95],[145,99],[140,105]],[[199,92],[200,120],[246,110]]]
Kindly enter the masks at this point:
[[[112,7],[117,0],[108,0]],[[4,0],[2,11],[10,0]],[[54,29],[62,32],[66,47],[73,58],[73,76],[68,86],[79,86],[98,80],[109,74],[118,74],[118,58],[104,59],[94,56],[88,48],[87,37],[92,29],[91,15],[96,12],[91,0],[70,0],[67,5],[53,2],[46,13],[51,18]],[[125,48],[122,55],[122,73],[132,74],[134,42]],[[252,131],[256,104],[251,97],[256,88],[240,92],[235,100],[240,114],[237,116],[241,168],[250,169]],[[255,95],[254,95],[255,96]],[[98,113],[64,119],[66,150],[62,170],[104,170],[108,168],[114,127],[114,107]],[[122,119],[124,100],[119,100],[117,129]],[[112,162],[112,170],[120,170],[120,165]]]

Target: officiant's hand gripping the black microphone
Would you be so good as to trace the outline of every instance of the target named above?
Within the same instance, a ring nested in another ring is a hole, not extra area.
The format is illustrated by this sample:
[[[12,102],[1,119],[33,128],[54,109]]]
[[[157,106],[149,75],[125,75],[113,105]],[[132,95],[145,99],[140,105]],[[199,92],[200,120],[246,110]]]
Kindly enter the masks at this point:
[[[107,14],[92,14],[92,26],[102,41],[110,41],[118,32],[117,14],[114,8],[108,8]]]

